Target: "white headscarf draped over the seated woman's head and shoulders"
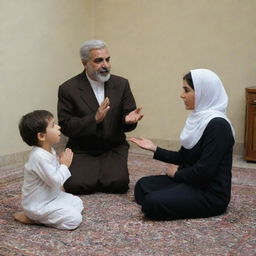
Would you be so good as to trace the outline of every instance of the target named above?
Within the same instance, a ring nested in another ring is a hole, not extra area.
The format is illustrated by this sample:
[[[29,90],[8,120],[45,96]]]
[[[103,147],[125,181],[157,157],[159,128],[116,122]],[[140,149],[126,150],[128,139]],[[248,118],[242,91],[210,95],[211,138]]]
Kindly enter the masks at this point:
[[[180,134],[181,144],[186,149],[193,148],[200,140],[208,123],[215,117],[226,119],[228,96],[220,78],[211,70],[191,70],[195,90],[195,109],[190,113]]]

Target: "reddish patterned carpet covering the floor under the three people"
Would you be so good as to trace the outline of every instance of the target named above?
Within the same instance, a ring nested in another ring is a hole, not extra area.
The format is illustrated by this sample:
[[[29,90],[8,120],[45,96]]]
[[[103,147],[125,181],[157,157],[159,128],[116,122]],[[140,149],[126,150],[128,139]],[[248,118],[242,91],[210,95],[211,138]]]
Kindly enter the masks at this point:
[[[125,195],[82,196],[83,223],[75,231],[17,223],[22,167],[0,171],[0,255],[256,255],[256,170],[233,168],[232,201],[226,214],[207,219],[151,221],[134,202],[142,176],[162,174],[165,164],[130,154]]]

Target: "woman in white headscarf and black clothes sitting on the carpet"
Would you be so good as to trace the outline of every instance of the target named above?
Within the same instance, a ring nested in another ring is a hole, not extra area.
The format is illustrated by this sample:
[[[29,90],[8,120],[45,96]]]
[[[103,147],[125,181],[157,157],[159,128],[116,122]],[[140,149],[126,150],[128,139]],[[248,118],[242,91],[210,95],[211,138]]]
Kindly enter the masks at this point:
[[[171,163],[167,175],[141,178],[135,199],[146,216],[158,220],[210,217],[222,214],[230,201],[233,127],[226,116],[228,97],[219,77],[207,69],[183,77],[181,98],[192,110],[181,132],[178,152],[150,140],[130,138]]]

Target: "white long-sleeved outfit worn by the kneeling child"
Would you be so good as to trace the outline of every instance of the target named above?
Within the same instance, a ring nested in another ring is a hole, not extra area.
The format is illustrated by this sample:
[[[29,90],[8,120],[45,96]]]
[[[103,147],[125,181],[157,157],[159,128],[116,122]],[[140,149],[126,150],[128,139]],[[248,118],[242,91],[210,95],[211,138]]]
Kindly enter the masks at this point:
[[[83,202],[63,192],[61,186],[71,176],[60,165],[56,152],[33,147],[25,164],[22,208],[30,219],[58,229],[75,229],[82,222]]]

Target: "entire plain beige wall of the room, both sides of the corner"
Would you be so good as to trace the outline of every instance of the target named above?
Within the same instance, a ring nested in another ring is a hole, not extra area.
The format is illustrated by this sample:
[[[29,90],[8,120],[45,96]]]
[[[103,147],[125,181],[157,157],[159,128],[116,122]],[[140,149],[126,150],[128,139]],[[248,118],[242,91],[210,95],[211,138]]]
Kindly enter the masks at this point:
[[[243,143],[245,88],[256,85],[254,0],[0,0],[0,155],[29,149],[20,117],[56,116],[57,89],[82,70],[80,44],[107,42],[114,74],[129,79],[145,117],[129,135],[179,140],[188,115],[182,76],[209,68],[229,95]]]

